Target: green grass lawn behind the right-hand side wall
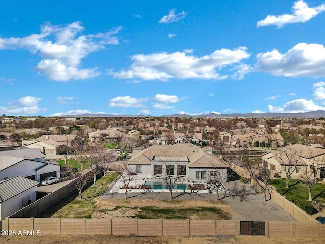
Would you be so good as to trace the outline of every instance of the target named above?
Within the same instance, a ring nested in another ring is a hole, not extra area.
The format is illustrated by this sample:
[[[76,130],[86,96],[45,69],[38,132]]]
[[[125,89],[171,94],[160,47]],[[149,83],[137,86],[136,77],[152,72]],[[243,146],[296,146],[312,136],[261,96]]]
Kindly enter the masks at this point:
[[[286,179],[273,179],[270,185],[274,186],[278,193],[284,195],[286,199],[295,203],[298,207],[312,214],[312,205],[308,201],[309,193],[307,183],[297,179],[289,179],[290,188],[286,188]],[[311,190],[312,201],[325,203],[325,184],[317,183]]]

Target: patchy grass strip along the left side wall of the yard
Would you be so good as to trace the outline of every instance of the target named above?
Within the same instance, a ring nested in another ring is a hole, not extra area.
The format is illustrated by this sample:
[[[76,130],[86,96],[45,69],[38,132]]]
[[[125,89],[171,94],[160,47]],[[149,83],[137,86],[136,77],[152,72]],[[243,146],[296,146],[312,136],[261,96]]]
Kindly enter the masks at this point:
[[[116,172],[108,172],[105,176],[96,181],[96,186],[90,186],[82,192],[82,198],[75,198],[63,207],[57,210],[51,216],[44,216],[43,218],[91,218],[95,209],[96,200],[94,197],[106,192],[108,185],[118,177]],[[51,212],[50,209],[47,211]]]

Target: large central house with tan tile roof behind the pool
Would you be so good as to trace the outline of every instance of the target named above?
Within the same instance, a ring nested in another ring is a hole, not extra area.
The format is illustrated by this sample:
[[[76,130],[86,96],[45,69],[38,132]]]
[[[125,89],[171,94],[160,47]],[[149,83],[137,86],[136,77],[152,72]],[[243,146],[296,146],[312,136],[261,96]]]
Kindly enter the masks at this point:
[[[226,179],[227,166],[217,157],[193,144],[157,145],[134,151],[127,162],[131,171],[153,177],[186,176],[189,181],[207,181],[210,174],[219,171]]]

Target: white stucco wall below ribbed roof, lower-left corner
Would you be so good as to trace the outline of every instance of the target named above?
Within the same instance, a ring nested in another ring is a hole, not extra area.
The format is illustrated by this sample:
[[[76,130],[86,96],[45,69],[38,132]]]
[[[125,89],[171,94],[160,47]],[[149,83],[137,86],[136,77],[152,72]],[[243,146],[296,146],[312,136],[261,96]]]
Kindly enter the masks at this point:
[[[0,203],[0,209],[1,209],[1,220],[4,220],[6,217],[14,214],[16,211],[20,210],[22,206],[22,200],[23,198],[30,196],[31,202],[36,201],[36,191],[37,186],[32,187],[10,199],[8,199],[5,202]]]

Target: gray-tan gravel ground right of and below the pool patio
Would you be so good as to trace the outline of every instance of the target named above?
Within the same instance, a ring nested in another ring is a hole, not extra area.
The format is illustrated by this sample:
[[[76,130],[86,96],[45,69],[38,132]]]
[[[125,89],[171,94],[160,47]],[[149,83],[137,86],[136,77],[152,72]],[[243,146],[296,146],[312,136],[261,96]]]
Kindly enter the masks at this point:
[[[240,201],[239,197],[233,197],[230,194],[220,193],[219,198],[226,201],[232,212],[232,220],[242,221],[297,221],[288,212],[284,211],[277,204],[271,200],[263,202],[263,194],[256,194],[253,189],[249,189],[248,184],[242,184],[239,180],[232,182],[225,182],[223,185],[226,189],[231,190],[234,188],[234,182],[236,182],[237,188],[244,186],[248,191],[246,199]],[[128,193],[129,199],[170,199],[169,193]],[[176,200],[216,200],[216,194],[206,193],[173,193],[173,197]],[[101,197],[102,200],[107,199],[124,199],[124,193],[107,193]]]

